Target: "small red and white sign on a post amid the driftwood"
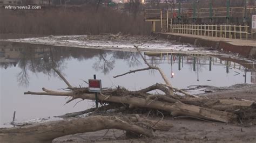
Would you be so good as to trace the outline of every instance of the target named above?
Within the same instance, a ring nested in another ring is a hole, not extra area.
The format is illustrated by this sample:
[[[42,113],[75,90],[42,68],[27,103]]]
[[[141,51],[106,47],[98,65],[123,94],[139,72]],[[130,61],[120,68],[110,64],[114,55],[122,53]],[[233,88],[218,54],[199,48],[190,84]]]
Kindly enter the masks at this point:
[[[96,80],[96,75],[93,75],[94,80],[89,80],[89,91],[95,92],[95,103],[98,108],[98,92],[102,92],[102,81]]]

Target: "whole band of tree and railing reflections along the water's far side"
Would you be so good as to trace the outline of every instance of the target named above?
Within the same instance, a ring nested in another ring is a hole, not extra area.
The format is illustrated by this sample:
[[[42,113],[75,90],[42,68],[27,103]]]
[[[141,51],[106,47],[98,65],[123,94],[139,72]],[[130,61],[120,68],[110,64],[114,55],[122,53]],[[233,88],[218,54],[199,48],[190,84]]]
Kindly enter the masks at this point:
[[[208,71],[212,71],[213,67],[222,66],[226,68],[226,74],[230,73],[230,69],[238,69],[242,71],[245,77],[247,71],[250,71],[251,81],[255,83],[254,65],[250,62],[239,61],[221,57],[195,55],[195,54],[174,54],[174,53],[145,53],[146,60],[153,66],[168,64],[171,66],[171,78],[174,77],[173,66],[177,65],[178,70],[185,67],[192,69],[197,74],[197,81],[200,79],[200,73],[205,71],[208,66]],[[0,66],[8,69],[12,66],[21,69],[17,73],[17,81],[19,85],[28,86],[30,75],[32,73],[43,73],[48,76],[56,76],[52,68],[57,68],[62,71],[66,68],[66,62],[70,59],[83,61],[95,59],[92,67],[95,71],[100,71],[104,75],[110,73],[115,68],[116,60],[123,60],[129,68],[142,66],[140,56],[134,52],[124,51],[106,51],[102,49],[84,49],[72,47],[51,47],[39,46],[31,44],[13,45],[4,43],[1,46]],[[66,62],[65,62],[66,61]],[[118,67],[117,67],[118,68]],[[247,69],[248,68],[248,69]],[[240,74],[237,72],[236,75]],[[151,71],[152,73],[152,71]]]

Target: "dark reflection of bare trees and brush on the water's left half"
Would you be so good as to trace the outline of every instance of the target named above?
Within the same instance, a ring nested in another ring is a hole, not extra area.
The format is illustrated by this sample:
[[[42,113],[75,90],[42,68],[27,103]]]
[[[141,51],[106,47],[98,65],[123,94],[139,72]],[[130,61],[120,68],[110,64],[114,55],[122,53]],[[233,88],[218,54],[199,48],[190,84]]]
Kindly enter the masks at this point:
[[[141,65],[138,60],[139,54],[123,51],[106,51],[102,49],[84,49],[71,47],[49,47],[31,46],[21,44],[22,47],[11,45],[1,46],[0,66],[7,69],[12,66],[18,67],[21,71],[17,74],[19,85],[29,85],[28,70],[32,73],[44,73],[48,76],[56,76],[52,68],[62,71],[65,68],[64,60],[71,58],[83,61],[95,58],[92,68],[101,73],[109,74],[113,70],[116,59],[126,61],[129,67]],[[24,46],[25,45],[25,46]]]

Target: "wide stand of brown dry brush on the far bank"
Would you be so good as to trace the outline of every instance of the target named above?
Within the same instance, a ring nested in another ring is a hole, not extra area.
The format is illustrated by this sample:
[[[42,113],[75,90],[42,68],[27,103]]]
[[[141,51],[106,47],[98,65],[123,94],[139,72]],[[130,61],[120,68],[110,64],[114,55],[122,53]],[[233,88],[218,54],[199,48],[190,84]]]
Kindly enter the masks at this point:
[[[79,35],[118,33],[145,35],[151,32],[150,23],[139,15],[92,6],[43,8],[41,10],[0,9],[0,33]]]

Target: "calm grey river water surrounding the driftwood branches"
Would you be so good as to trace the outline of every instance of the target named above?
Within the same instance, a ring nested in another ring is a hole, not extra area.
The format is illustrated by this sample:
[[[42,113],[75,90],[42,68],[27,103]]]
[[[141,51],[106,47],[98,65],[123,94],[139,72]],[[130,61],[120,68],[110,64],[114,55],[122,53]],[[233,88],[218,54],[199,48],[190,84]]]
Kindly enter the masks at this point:
[[[159,66],[172,85],[226,87],[238,83],[255,83],[254,65],[244,60],[197,54],[144,53],[146,60]],[[33,118],[52,118],[68,112],[95,106],[92,101],[73,101],[66,97],[24,95],[25,91],[66,88],[52,71],[55,67],[74,86],[86,87],[93,74],[102,80],[103,87],[120,85],[139,90],[155,83],[163,83],[154,70],[140,71],[113,78],[131,69],[146,67],[138,53],[57,46],[2,44],[0,47],[0,127],[8,126],[16,111],[16,121]]]

